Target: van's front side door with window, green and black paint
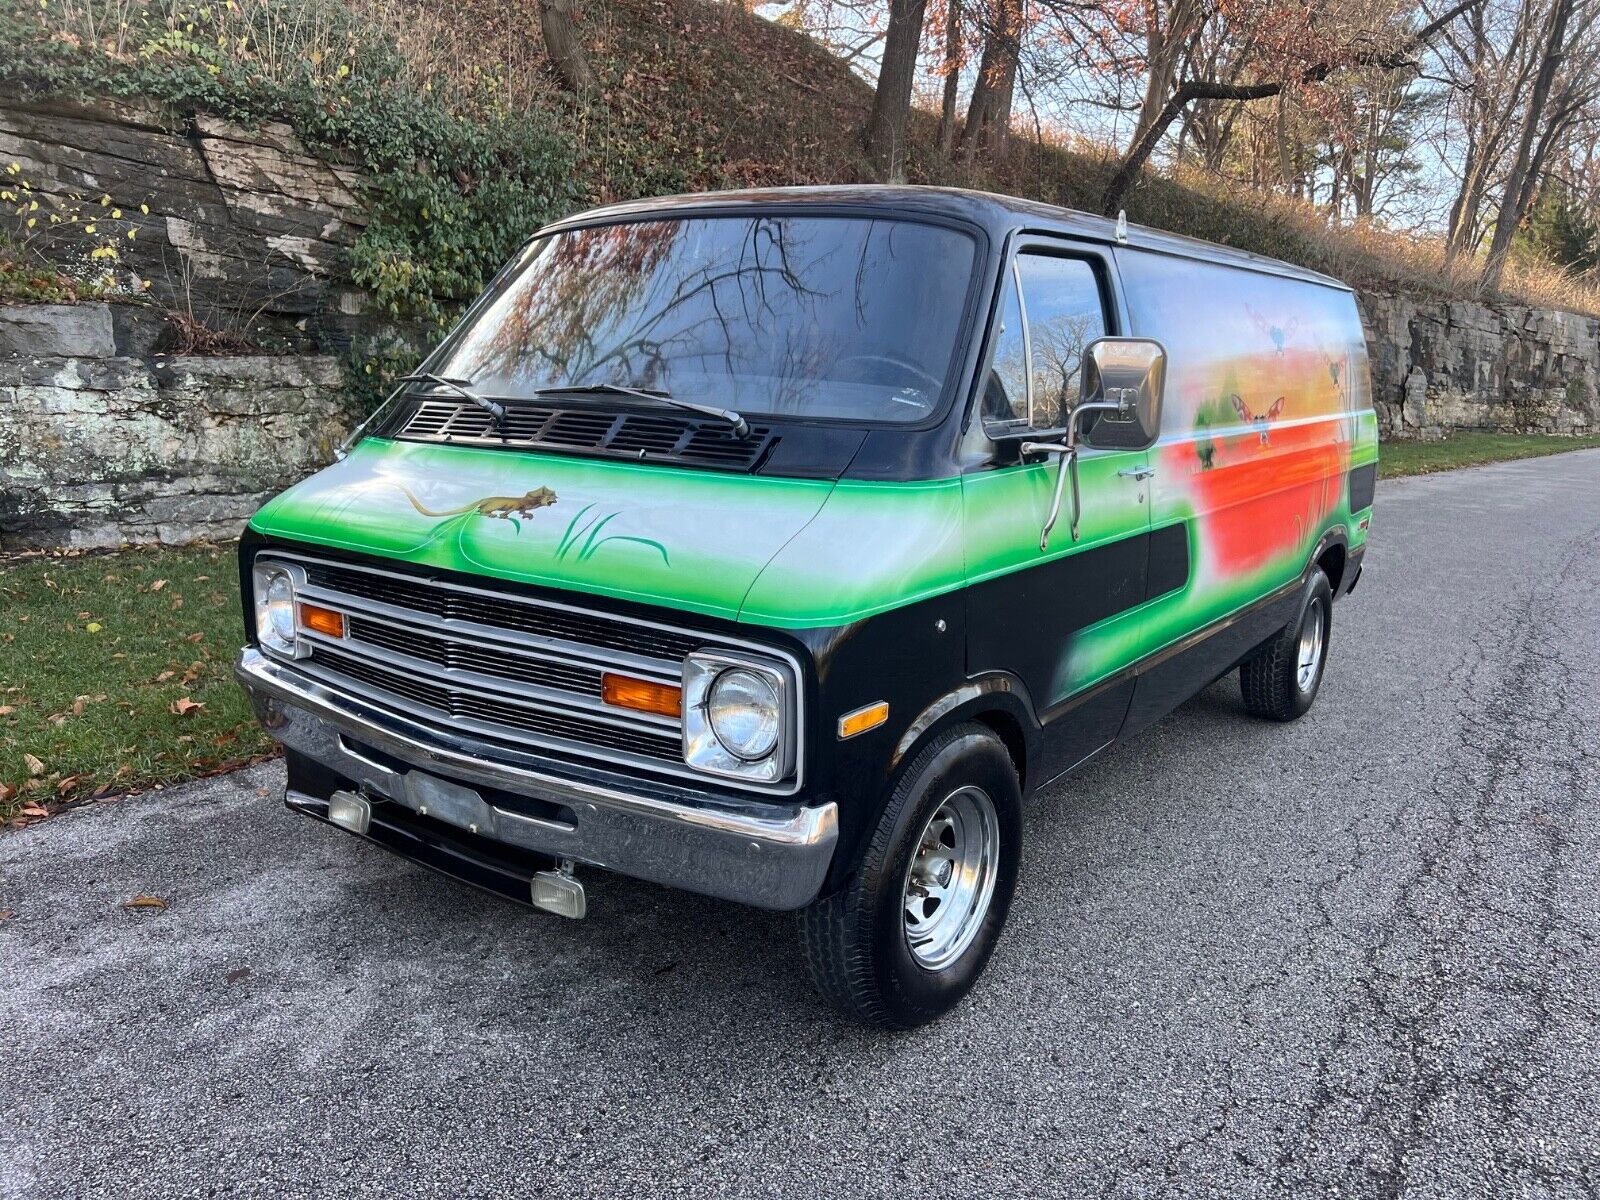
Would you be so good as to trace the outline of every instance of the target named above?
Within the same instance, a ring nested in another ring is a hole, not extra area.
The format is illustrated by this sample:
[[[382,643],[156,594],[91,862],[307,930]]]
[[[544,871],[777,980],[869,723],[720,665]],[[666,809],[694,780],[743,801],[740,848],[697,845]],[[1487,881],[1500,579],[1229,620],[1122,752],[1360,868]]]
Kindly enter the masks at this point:
[[[1062,424],[1078,403],[1083,350],[1117,331],[1110,270],[1094,253],[1026,245],[1003,282],[979,402],[984,430],[1014,435]],[[1133,694],[1134,613],[1146,597],[1149,451],[1080,454],[1072,488],[1040,547],[1056,458],[997,461],[963,477],[968,667],[1021,678],[1045,723],[1045,776],[1110,742]]]

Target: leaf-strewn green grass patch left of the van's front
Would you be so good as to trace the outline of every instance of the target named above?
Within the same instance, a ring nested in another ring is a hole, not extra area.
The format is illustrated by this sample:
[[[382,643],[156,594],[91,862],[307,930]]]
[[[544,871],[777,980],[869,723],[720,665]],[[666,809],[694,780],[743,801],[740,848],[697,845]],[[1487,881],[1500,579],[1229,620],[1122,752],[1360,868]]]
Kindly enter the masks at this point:
[[[237,571],[232,546],[0,560],[0,821],[272,750],[232,675]]]

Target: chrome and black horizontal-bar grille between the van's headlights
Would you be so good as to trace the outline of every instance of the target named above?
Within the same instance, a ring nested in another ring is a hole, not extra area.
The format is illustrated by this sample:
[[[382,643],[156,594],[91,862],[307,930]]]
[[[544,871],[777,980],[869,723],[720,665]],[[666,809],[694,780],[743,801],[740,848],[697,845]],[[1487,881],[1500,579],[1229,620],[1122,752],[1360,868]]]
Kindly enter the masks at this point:
[[[443,579],[266,552],[304,571],[302,595],[346,614],[346,635],[301,632],[296,666],[424,725],[570,760],[688,774],[677,717],[602,699],[622,670],[680,685],[683,656],[717,645],[570,605]]]

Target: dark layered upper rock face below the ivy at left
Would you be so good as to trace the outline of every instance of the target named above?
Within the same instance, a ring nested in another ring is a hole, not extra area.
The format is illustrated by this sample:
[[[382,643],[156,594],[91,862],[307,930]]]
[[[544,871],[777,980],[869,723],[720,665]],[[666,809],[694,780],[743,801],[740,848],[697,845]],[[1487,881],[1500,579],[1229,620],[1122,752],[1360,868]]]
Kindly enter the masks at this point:
[[[245,130],[131,101],[0,98],[0,163],[43,211],[122,213],[118,267],[158,307],[280,350],[328,350],[362,326],[346,251],[366,226],[362,178],[282,123]],[[10,179],[11,176],[8,176]],[[74,200],[74,197],[78,197]],[[58,230],[69,230],[59,226]],[[70,267],[75,230],[40,243]]]

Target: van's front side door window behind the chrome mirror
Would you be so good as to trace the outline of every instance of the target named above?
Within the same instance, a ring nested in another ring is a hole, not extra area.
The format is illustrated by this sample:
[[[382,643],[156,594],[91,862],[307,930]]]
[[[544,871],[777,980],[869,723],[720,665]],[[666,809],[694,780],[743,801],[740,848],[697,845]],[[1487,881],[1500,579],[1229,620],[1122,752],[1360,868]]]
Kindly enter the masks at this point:
[[[1078,400],[1083,349],[1102,336],[1106,307],[1091,262],[1019,254],[1006,272],[1000,301],[1000,331],[984,386],[984,422],[1059,426]]]

